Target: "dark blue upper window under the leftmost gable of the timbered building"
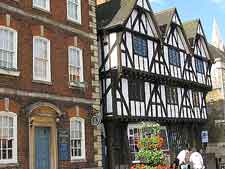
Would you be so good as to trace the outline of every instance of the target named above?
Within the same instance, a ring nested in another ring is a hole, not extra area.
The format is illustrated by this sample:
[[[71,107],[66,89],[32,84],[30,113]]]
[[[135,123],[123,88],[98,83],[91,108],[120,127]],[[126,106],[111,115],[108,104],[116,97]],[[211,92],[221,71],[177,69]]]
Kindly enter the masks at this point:
[[[133,43],[134,43],[134,53],[136,55],[147,57],[148,54],[147,40],[140,36],[134,35]]]

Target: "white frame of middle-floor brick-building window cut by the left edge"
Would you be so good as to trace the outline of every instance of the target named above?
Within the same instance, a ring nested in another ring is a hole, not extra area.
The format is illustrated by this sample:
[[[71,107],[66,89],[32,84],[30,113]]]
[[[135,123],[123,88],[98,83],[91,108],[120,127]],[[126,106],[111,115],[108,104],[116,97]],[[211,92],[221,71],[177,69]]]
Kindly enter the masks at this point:
[[[6,27],[6,26],[0,26],[0,29],[1,30],[6,30],[6,31],[10,31],[10,32],[13,32],[13,39],[14,39],[14,56],[13,56],[13,68],[15,70],[17,70],[17,51],[18,51],[18,33],[16,30],[12,29],[12,28],[9,28],[9,27]],[[1,68],[2,69],[2,68]]]

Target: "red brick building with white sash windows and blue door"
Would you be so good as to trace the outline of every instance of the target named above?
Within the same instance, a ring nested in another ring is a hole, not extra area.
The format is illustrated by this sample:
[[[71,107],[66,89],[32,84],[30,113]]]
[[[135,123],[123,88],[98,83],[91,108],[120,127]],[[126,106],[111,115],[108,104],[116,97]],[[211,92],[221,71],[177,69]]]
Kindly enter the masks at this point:
[[[101,168],[95,0],[0,1],[0,168]]]

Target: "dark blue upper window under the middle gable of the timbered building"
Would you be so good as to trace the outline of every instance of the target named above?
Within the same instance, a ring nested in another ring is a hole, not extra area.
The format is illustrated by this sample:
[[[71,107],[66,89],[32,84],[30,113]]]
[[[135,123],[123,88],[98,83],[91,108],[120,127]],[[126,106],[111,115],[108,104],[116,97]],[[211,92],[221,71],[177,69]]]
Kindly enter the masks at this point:
[[[168,48],[168,54],[169,54],[169,63],[171,65],[180,67],[181,62],[180,62],[180,53],[179,53],[179,51],[176,48],[174,48],[174,47],[169,47]]]

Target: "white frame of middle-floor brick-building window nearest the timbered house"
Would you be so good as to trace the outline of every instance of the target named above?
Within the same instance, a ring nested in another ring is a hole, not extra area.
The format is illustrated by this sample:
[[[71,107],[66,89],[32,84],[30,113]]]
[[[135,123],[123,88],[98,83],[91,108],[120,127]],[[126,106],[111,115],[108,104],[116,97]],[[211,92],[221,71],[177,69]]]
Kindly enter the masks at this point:
[[[68,48],[68,73],[69,73],[69,82],[70,85],[75,85],[73,81],[70,79],[70,50],[77,50],[80,53],[80,81],[78,82],[84,82],[84,66],[83,66],[83,51],[82,49],[74,46],[69,46]]]

